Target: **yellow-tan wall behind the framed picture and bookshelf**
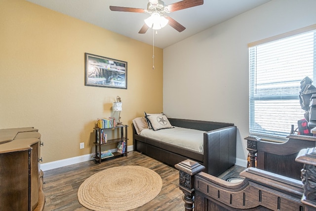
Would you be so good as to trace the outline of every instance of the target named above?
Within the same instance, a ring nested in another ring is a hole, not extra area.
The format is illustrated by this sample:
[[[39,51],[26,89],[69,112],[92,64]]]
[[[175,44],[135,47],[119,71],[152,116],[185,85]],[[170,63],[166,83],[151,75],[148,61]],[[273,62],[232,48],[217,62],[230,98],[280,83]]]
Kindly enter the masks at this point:
[[[106,21],[106,20],[105,20]],[[84,85],[84,53],[128,62],[127,89]],[[0,128],[36,127],[43,163],[90,154],[97,118],[162,112],[162,49],[24,0],[0,0]],[[79,149],[84,142],[85,148]]]

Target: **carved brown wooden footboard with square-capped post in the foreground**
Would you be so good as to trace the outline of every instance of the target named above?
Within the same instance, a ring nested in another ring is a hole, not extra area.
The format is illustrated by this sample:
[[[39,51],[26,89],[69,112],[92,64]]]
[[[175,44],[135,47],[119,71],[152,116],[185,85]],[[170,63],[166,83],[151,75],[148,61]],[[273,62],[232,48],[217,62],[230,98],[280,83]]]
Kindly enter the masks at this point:
[[[315,211],[316,150],[303,149],[296,159],[304,164],[302,181],[248,168],[245,179],[230,183],[201,170],[197,162],[186,160],[179,169],[179,188],[186,211]],[[303,188],[304,187],[304,188]]]

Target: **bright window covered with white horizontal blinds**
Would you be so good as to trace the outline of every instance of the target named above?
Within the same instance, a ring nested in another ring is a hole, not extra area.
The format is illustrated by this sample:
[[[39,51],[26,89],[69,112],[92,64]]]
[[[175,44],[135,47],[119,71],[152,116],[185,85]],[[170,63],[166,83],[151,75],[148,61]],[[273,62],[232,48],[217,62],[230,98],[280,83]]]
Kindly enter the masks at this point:
[[[300,82],[308,76],[316,86],[316,25],[248,47],[249,132],[285,138],[304,119]]]

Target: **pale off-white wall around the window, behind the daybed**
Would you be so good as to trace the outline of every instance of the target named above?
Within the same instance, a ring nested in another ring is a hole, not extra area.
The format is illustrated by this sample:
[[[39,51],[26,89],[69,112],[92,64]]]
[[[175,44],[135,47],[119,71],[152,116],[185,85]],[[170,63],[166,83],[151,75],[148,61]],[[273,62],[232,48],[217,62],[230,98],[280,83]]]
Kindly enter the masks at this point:
[[[163,112],[173,118],[234,123],[237,164],[245,165],[247,44],[316,24],[315,8],[316,0],[272,0],[164,48]]]

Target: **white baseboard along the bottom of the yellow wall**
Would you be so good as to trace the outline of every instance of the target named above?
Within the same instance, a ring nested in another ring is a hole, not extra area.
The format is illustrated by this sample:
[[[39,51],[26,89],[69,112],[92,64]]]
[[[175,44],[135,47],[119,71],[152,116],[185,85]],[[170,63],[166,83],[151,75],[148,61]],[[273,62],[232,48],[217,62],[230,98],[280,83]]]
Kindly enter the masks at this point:
[[[127,146],[127,152],[132,151],[132,150],[133,150],[133,145]],[[117,149],[111,149],[111,151],[116,152]],[[91,153],[91,154],[87,154],[87,155],[81,155],[78,157],[67,158],[64,160],[40,164],[40,169],[42,171],[56,169],[56,168],[65,167],[65,166],[69,166],[69,165],[73,165],[73,164],[78,164],[78,163],[85,162],[85,161],[91,161],[93,159],[94,158],[93,158],[93,155]]]

